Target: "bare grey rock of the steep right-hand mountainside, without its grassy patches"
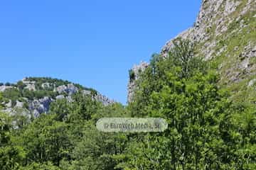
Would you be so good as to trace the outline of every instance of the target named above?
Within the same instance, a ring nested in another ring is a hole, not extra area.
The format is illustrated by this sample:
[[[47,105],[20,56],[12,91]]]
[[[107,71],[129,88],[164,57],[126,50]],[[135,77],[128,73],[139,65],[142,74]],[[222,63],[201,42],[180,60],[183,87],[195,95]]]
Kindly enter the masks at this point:
[[[239,17],[232,17],[233,13],[238,11],[238,8],[240,10]],[[245,28],[247,23],[242,21],[240,18],[250,11],[255,12],[255,9],[256,1],[253,0],[203,0],[193,27],[188,28],[187,30],[178,34],[175,38],[172,38],[166,42],[164,47],[161,49],[161,55],[166,57],[171,51],[172,47],[174,47],[173,41],[176,40],[176,38],[181,38],[191,40],[191,42],[200,43],[200,55],[204,56],[205,60],[211,60],[213,57],[220,56],[226,50],[228,50],[228,47],[223,45],[223,47],[216,50],[216,45],[220,43],[217,37],[220,35],[234,35],[235,33],[238,33],[242,28]],[[254,17],[256,17],[256,15]],[[234,23],[234,21],[240,22],[240,28],[233,29],[232,31],[228,30],[231,23]],[[250,71],[255,69],[255,64],[250,63],[251,58],[255,57],[255,50],[253,50],[255,48],[256,45],[255,42],[253,42],[250,47],[246,48],[242,52],[241,55],[244,60],[231,68],[233,70],[226,70],[225,74],[230,75],[228,77],[230,81],[240,81],[240,76],[242,74],[235,71],[237,68],[243,69],[242,72],[245,71],[246,74],[250,74]],[[223,64],[220,66],[220,68],[222,67]],[[132,91],[134,91],[135,88],[136,86],[134,85],[134,81],[129,81],[127,98],[128,102],[131,101],[133,94]]]

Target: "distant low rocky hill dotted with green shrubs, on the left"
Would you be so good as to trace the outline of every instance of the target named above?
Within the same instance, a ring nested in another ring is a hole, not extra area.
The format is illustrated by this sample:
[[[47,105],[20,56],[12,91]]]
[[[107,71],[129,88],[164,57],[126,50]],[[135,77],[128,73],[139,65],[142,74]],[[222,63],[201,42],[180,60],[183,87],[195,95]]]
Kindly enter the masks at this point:
[[[72,96],[76,93],[90,95],[105,106],[114,103],[94,89],[47,77],[28,77],[16,84],[1,84],[0,91],[4,97],[1,102],[4,111],[13,115],[19,111],[29,118],[37,118],[41,113],[47,113],[53,101],[65,99],[72,102]]]

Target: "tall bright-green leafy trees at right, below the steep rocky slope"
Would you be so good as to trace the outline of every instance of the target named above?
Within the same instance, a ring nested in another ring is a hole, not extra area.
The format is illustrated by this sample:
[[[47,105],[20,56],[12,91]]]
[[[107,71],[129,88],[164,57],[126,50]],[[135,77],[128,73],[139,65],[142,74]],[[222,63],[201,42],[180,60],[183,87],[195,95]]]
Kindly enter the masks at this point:
[[[166,59],[154,55],[137,80],[132,115],[165,118],[169,128],[134,135],[118,167],[255,168],[255,107],[230,102],[228,92],[218,88],[218,75],[189,49],[179,41]]]

